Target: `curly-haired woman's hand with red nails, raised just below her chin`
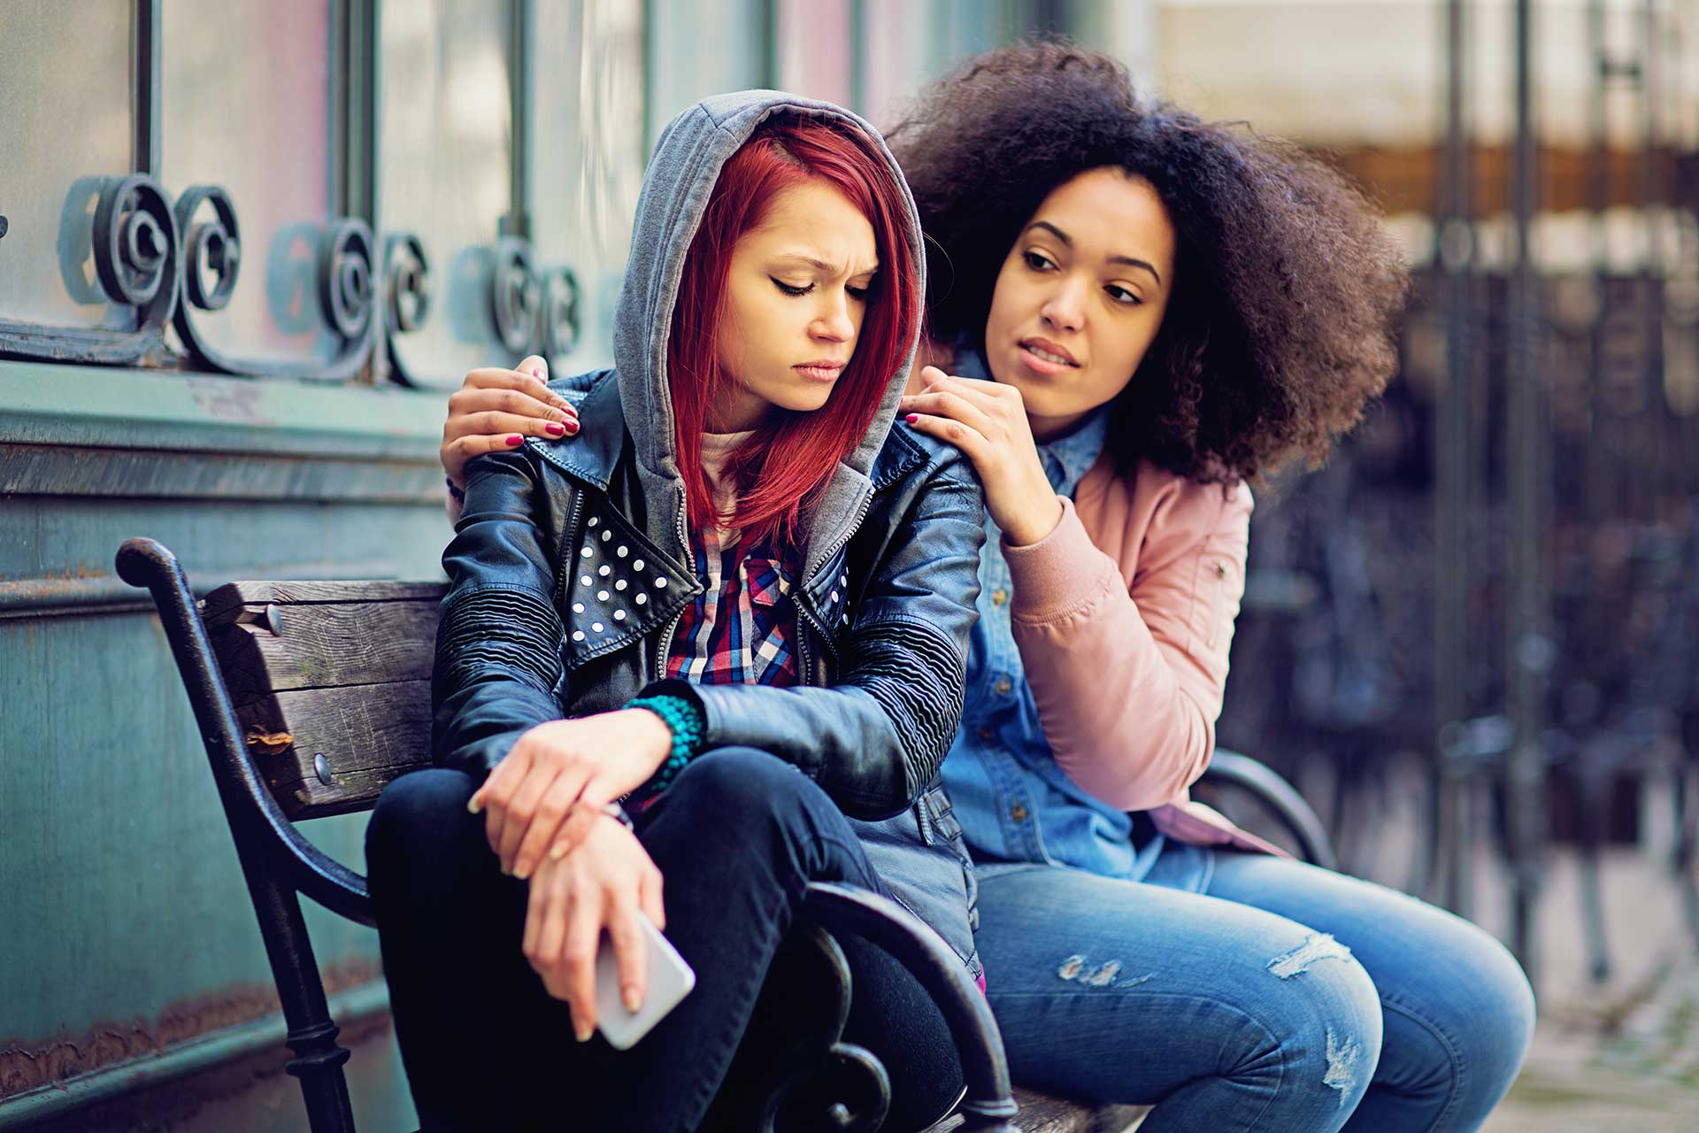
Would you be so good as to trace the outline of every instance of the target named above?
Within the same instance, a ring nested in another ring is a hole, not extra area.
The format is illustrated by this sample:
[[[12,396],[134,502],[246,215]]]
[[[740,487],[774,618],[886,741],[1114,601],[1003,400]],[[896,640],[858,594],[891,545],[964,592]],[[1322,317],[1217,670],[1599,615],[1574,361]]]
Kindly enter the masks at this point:
[[[985,486],[985,510],[1011,547],[1036,544],[1062,520],[1021,391],[1001,382],[951,377],[934,365],[921,370],[921,392],[907,394],[897,411],[928,437],[960,448]]]

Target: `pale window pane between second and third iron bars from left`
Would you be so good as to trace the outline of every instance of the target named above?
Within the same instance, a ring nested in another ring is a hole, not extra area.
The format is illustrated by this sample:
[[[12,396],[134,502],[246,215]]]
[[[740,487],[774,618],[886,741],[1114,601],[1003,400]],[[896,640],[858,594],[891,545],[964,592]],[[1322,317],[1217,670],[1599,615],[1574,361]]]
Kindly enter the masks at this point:
[[[540,5],[547,7],[547,5]],[[518,362],[493,324],[494,245],[510,209],[508,5],[392,0],[382,7],[386,233],[416,233],[432,307],[396,338],[409,375],[455,384],[477,365]]]

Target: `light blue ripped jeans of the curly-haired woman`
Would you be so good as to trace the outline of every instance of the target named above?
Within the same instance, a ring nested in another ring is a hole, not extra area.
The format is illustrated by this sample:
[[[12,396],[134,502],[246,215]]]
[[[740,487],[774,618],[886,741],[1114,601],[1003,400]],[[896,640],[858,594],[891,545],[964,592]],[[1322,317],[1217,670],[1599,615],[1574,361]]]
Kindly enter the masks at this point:
[[[1476,1130],[1532,1034],[1485,931],[1300,861],[1171,843],[1145,882],[984,863],[979,909],[1014,1080],[1155,1106],[1140,1133]]]

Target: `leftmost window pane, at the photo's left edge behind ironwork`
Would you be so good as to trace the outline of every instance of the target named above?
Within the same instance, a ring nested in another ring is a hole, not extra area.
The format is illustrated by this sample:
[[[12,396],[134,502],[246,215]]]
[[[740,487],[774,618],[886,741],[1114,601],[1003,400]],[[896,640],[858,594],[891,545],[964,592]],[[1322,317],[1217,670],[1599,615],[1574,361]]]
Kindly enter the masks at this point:
[[[97,178],[131,172],[129,0],[0,3],[0,318],[127,330],[95,282]]]

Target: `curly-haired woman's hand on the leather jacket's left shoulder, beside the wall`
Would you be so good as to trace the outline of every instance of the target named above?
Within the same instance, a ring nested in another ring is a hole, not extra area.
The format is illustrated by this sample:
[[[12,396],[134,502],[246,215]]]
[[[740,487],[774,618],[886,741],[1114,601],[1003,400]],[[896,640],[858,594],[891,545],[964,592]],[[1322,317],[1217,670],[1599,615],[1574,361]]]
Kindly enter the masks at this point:
[[[442,469],[466,488],[466,462],[486,452],[518,448],[525,437],[578,433],[578,409],[547,386],[549,364],[532,355],[516,370],[486,367],[466,375],[449,396],[442,426]]]

